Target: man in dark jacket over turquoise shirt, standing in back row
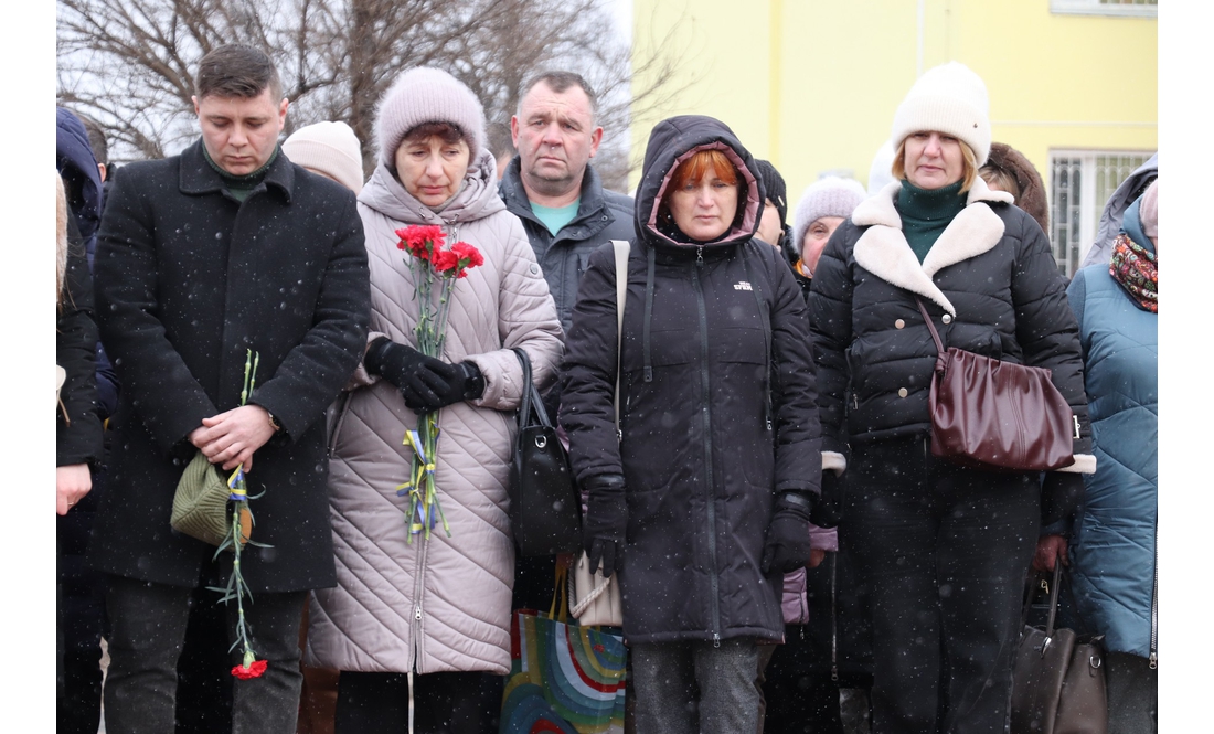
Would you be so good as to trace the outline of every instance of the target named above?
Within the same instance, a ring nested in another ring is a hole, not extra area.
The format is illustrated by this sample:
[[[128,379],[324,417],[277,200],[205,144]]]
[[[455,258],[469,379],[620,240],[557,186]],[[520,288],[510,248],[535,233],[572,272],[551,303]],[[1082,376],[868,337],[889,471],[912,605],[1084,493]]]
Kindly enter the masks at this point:
[[[590,159],[603,129],[595,124],[599,98],[572,72],[532,79],[510,119],[515,157],[499,192],[523,222],[535,260],[566,334],[590,254],[603,243],[632,237],[632,199],[603,188]]]

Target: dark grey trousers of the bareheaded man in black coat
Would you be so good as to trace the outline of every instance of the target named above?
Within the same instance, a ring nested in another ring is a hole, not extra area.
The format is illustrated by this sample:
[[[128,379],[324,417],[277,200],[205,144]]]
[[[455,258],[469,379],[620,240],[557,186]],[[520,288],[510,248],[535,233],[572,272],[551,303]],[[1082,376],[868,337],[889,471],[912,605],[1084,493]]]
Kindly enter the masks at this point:
[[[106,609],[110,633],[106,678],[108,734],[171,734],[175,722],[177,659],[189,619],[192,588],[107,576]],[[266,672],[234,681],[232,732],[294,734],[299,715],[299,628],[307,592],[254,594],[244,614],[259,660]],[[211,644],[227,649],[234,641],[237,607],[227,604],[227,635]],[[240,662],[242,650],[227,655],[226,667]]]

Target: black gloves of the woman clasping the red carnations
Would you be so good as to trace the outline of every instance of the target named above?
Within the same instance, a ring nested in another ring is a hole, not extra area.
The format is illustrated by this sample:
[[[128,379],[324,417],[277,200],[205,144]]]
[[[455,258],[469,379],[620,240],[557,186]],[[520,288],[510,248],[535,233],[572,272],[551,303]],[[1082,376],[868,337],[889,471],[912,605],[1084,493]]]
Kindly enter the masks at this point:
[[[484,376],[473,363],[449,364],[386,336],[371,342],[363,364],[368,372],[397,386],[404,404],[418,412],[475,400],[484,394]]]

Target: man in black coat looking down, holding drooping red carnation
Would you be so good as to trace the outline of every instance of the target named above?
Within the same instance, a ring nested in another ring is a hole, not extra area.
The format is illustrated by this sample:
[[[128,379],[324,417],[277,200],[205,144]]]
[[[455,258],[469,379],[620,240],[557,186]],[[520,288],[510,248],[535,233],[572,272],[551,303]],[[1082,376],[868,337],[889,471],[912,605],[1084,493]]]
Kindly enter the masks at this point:
[[[253,536],[266,544],[244,548],[240,573],[255,601],[242,622],[268,666],[236,681],[233,730],[287,733],[307,590],[335,584],[323,415],[365,345],[367,255],[353,194],[280,154],[288,101],[265,53],[216,49],[195,84],[202,140],[126,166],[96,257],[101,335],[123,381],[91,548],[108,574],[106,728],[172,730],[191,591],[232,573],[229,552],[212,559],[212,546],[169,525],[202,451],[225,477],[243,466]],[[225,649],[234,603],[228,625],[214,641]]]

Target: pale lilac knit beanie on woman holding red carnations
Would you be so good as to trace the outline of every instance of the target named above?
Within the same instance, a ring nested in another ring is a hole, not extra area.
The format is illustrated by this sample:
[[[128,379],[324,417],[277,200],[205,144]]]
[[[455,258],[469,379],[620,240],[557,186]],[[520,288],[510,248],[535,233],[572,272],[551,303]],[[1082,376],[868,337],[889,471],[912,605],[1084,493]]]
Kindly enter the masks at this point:
[[[443,72],[430,67],[408,69],[392,82],[380,101],[375,137],[380,161],[396,166],[396,149],[405,133],[425,123],[450,123],[464,133],[469,160],[484,149],[484,108],[472,90]]]

